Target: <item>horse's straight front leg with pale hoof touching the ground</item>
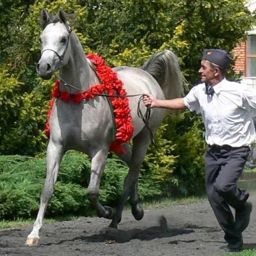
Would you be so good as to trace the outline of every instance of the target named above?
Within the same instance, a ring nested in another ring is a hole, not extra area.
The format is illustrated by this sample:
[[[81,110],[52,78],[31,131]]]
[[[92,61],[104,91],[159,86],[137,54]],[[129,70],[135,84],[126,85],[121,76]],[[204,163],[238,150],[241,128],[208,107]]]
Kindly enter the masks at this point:
[[[40,244],[39,232],[42,229],[43,218],[46,212],[46,207],[50,201],[54,192],[54,185],[57,181],[58,171],[60,168],[60,162],[63,156],[63,150],[61,147],[56,146],[52,140],[50,140],[47,147],[46,162],[47,162],[47,174],[44,182],[44,189],[40,198],[40,207],[38,210],[36,221],[32,232],[28,235],[26,244],[28,246],[38,246]]]

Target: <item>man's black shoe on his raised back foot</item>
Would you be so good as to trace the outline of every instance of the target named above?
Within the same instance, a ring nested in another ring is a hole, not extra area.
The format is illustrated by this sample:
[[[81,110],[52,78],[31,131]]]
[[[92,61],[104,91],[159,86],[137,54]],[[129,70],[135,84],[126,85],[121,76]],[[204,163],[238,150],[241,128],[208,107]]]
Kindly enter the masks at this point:
[[[243,232],[247,228],[250,222],[251,212],[252,212],[251,202],[246,202],[243,208],[236,209],[235,229],[238,232]]]

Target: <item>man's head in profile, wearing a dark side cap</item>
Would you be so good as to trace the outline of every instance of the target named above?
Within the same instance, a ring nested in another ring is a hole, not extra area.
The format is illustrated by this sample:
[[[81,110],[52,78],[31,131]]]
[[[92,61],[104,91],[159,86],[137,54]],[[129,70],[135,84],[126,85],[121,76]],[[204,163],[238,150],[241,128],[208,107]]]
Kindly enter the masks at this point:
[[[208,82],[211,85],[220,82],[225,77],[226,69],[231,60],[224,50],[204,49],[199,69],[202,82]]]

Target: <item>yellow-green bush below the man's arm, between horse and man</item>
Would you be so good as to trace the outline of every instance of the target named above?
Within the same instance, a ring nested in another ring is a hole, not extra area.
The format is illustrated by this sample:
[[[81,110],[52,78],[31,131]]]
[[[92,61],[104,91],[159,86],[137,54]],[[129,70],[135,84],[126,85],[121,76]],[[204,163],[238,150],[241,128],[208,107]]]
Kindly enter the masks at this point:
[[[166,116],[143,162],[144,178],[154,181],[155,195],[204,193],[204,125],[193,112]],[[145,186],[146,182],[142,186]],[[158,190],[158,193],[156,191]]]

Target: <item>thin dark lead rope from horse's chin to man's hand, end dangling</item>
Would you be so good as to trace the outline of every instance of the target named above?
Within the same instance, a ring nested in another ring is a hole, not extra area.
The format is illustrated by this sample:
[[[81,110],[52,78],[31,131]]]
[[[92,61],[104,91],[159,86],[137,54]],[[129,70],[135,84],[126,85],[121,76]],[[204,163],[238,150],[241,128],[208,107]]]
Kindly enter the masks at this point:
[[[64,83],[64,85],[66,86],[70,86],[80,92],[83,92],[81,89],[77,88],[76,86],[73,86],[71,84],[68,84],[67,82],[65,82],[62,78],[60,78],[60,80]],[[144,94],[132,94],[132,95],[120,95],[120,94],[115,94],[115,95],[108,95],[108,94],[100,94],[100,93],[94,93],[94,92],[90,92],[91,94],[97,95],[97,96],[103,96],[103,97],[123,97],[123,98],[129,98],[129,97],[135,97],[135,96],[140,96],[139,100],[138,100],[138,105],[137,105],[137,115],[139,118],[142,119],[142,121],[144,122],[146,128],[149,130],[149,135],[150,135],[150,140],[152,142],[152,144],[155,146],[156,142],[154,140],[154,135],[152,130],[149,127],[149,118],[150,118],[150,113],[151,113],[151,108],[147,107],[145,114],[142,114],[142,111],[140,109],[140,102],[143,100],[143,96]]]

